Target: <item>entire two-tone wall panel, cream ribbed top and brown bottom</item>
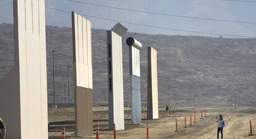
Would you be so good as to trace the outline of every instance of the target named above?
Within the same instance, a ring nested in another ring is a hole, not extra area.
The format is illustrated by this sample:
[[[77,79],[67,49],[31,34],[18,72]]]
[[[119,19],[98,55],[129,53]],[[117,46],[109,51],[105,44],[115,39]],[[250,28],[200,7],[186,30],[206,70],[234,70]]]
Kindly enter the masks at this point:
[[[75,133],[77,137],[93,134],[91,30],[89,20],[72,12]]]

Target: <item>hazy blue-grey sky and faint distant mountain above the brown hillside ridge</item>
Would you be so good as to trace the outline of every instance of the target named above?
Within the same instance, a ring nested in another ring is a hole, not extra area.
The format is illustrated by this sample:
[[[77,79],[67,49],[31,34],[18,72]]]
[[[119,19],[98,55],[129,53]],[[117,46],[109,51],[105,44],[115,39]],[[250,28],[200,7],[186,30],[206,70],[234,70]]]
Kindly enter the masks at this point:
[[[147,10],[165,14],[185,15],[192,17],[218,18],[224,20],[239,20],[256,22],[256,2],[230,2],[221,0],[75,0],[103,4],[105,6],[124,7],[127,9]],[[63,10],[74,10],[80,14],[111,18],[133,23],[140,23],[180,30],[205,31],[221,34],[256,36],[256,24],[214,22],[189,18],[168,17],[163,15],[143,14],[127,10],[109,9],[86,4],[78,4],[66,0],[45,0],[48,7]],[[85,17],[92,21],[93,28],[111,29],[116,22]],[[12,0],[0,0],[0,23],[12,23]],[[46,9],[46,25],[71,26],[71,14]],[[147,34],[207,34],[184,33],[180,31],[148,28],[144,26],[123,23],[130,32]],[[225,37],[225,36],[224,36]]]

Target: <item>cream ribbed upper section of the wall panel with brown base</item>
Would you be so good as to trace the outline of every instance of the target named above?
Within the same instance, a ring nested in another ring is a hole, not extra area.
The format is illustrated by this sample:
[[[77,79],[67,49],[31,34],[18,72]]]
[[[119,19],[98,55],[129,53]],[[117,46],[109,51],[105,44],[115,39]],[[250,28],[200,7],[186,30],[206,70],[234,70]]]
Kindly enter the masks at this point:
[[[93,89],[91,22],[75,12],[73,22],[75,83],[79,87]]]

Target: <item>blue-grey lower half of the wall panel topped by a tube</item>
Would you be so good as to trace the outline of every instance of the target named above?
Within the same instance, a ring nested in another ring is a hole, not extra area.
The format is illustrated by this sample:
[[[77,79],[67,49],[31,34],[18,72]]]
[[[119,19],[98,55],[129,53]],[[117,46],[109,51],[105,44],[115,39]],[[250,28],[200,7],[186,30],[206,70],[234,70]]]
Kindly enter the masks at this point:
[[[132,100],[132,124],[141,124],[142,122],[142,109],[141,109],[141,95],[140,95],[140,77],[130,76],[131,86],[131,100]]]

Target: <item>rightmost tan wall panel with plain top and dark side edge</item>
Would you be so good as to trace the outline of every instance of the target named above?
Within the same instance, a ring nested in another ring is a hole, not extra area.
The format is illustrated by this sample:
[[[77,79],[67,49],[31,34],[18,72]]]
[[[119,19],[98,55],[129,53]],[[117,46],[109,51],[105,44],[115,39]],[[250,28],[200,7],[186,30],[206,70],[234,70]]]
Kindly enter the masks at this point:
[[[148,119],[158,119],[157,52],[148,47]]]

